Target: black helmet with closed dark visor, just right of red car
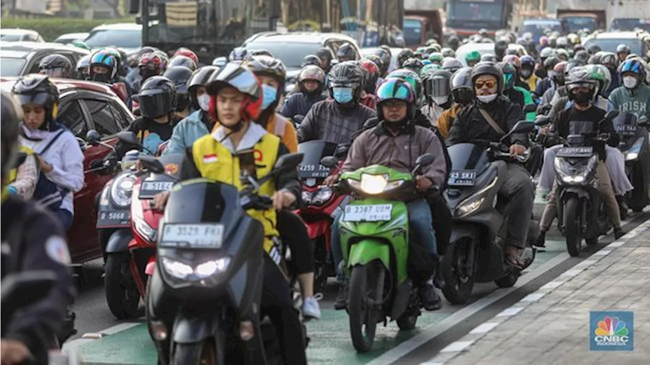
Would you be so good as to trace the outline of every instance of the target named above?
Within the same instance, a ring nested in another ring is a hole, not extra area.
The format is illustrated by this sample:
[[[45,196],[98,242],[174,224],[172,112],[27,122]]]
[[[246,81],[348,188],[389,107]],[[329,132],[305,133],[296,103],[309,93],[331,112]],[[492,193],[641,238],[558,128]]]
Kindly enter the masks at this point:
[[[138,92],[140,115],[144,118],[159,118],[176,110],[176,86],[166,77],[151,76]]]

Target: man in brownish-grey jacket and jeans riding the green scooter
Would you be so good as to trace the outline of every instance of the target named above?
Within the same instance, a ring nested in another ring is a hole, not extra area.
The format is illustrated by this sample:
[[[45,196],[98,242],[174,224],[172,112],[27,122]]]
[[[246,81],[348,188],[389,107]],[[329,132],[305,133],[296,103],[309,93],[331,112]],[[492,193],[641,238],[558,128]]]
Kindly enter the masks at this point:
[[[380,123],[363,132],[352,143],[348,157],[341,172],[354,171],[364,166],[380,164],[393,167],[402,172],[411,171],[419,155],[430,153],[435,161],[421,171],[416,177],[417,189],[426,192],[432,187],[440,188],[445,184],[447,164],[443,147],[437,136],[430,129],[415,124],[415,93],[408,82],[401,79],[387,79],[377,90],[377,112]],[[372,153],[367,153],[372,151]],[[333,184],[340,175],[331,175],[326,184]],[[411,270],[409,275],[414,285],[419,287],[422,305],[426,310],[441,308],[441,299],[437,296],[430,278],[437,268],[437,249],[431,211],[424,199],[415,199],[408,203],[409,223],[413,232],[411,241]],[[339,267],[342,261],[341,242],[339,238],[339,219],[337,214],[331,227],[332,253],[337,279],[344,280],[343,270]],[[417,247],[415,247],[417,245]],[[415,252],[416,254],[413,254]],[[342,290],[335,303],[335,308],[345,307],[347,288]]]

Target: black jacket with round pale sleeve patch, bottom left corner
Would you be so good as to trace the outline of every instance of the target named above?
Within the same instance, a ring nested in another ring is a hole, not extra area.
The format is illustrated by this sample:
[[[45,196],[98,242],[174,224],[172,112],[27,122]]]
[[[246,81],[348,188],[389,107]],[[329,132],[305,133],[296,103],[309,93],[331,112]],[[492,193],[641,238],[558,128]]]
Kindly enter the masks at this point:
[[[65,234],[44,208],[16,197],[0,205],[0,217],[0,281],[10,273],[31,270],[50,270],[58,277],[47,297],[20,308],[0,334],[27,345],[36,364],[47,364],[47,351],[53,348],[76,292]]]

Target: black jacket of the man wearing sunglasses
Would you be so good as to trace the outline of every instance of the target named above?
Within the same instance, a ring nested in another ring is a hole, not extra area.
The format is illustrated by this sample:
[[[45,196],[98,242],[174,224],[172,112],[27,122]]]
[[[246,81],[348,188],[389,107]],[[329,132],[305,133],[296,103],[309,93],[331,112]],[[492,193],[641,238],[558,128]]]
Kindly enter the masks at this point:
[[[519,105],[512,103],[507,97],[500,96],[496,101],[484,107],[492,119],[504,131],[508,132],[515,126],[517,121],[524,120],[524,115]],[[454,145],[472,140],[488,140],[499,142],[502,135],[495,131],[478,111],[479,105],[476,101],[469,107],[465,107],[456,115],[456,121],[449,130],[447,145]],[[508,144],[506,142],[506,144]],[[516,133],[510,136],[509,144],[521,144],[528,146],[528,135]]]

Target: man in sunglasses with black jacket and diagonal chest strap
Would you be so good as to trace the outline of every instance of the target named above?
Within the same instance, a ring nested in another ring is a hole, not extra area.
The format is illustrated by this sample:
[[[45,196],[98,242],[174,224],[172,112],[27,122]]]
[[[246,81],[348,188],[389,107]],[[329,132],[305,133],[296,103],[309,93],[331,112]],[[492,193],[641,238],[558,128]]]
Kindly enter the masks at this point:
[[[471,140],[498,142],[517,121],[523,119],[521,107],[502,95],[503,73],[497,65],[491,62],[476,64],[472,70],[472,83],[476,100],[458,112],[445,141],[447,145]],[[523,155],[529,141],[526,133],[516,133],[510,136],[509,142],[512,155]],[[522,266],[519,253],[526,244],[534,199],[534,186],[528,171],[517,162],[508,162],[499,193],[510,201],[508,245],[504,247],[506,260],[513,266]]]

